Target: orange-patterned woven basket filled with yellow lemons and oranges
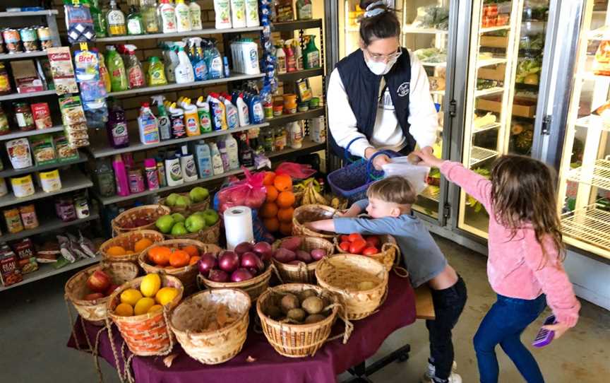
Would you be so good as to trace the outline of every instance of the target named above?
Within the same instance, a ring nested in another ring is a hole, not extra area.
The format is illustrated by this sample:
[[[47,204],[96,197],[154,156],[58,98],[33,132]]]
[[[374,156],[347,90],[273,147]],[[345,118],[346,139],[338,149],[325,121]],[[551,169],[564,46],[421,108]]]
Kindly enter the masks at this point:
[[[182,299],[184,287],[174,276],[147,274],[114,290],[107,312],[134,355],[165,355],[174,346],[169,312]]]

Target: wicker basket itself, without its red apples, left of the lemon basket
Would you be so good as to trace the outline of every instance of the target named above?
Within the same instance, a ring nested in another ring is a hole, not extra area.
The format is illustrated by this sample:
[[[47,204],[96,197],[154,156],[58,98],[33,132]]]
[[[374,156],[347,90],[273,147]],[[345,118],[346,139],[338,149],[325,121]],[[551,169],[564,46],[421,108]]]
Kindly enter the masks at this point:
[[[102,270],[108,274],[112,283],[122,285],[138,276],[138,266],[131,262],[104,262],[88,269],[81,270],[74,274],[64,288],[66,299],[72,302],[80,317],[92,322],[96,326],[102,326],[107,318],[106,305],[110,297],[103,297],[96,300],[83,300],[83,297],[90,293],[87,287],[87,280],[96,270]]]

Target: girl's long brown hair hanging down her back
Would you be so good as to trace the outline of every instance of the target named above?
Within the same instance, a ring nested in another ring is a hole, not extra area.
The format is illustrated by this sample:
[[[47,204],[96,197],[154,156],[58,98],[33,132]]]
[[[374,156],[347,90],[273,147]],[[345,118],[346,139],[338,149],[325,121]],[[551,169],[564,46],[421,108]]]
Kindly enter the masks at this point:
[[[496,220],[511,230],[531,223],[542,247],[544,267],[548,254],[542,243],[549,236],[563,261],[566,248],[561,240],[561,222],[555,202],[556,174],[544,163],[523,155],[503,155],[491,169],[491,201]]]

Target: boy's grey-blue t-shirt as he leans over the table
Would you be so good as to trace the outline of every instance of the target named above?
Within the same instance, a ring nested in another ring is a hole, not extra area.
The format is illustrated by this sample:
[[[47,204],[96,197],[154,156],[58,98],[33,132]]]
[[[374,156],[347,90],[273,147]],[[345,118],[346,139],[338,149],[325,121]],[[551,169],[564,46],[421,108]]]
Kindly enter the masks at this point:
[[[369,201],[363,199],[356,204],[364,211]],[[395,237],[414,288],[430,281],[447,266],[447,259],[428,228],[412,213],[396,218],[333,218],[333,222],[335,232],[341,234],[359,232],[364,235],[388,234]]]

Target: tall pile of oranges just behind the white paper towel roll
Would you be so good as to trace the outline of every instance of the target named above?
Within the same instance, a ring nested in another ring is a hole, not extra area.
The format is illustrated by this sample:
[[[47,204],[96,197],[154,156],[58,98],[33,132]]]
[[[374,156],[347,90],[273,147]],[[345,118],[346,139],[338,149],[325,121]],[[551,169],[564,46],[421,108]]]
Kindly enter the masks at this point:
[[[270,232],[291,235],[292,215],[297,201],[297,197],[292,192],[292,178],[289,175],[266,172],[263,184],[267,190],[267,197],[258,214],[263,218],[265,228]]]

